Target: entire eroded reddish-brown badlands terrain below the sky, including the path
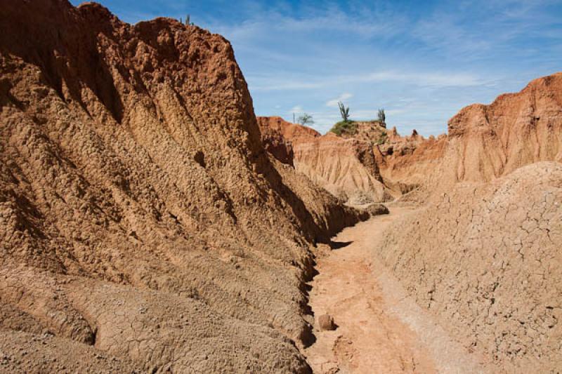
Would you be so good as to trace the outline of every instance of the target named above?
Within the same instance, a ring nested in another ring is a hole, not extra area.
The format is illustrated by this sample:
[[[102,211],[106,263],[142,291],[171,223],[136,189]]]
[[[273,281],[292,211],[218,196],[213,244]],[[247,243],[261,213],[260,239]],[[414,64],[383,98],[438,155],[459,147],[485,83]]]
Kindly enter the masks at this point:
[[[1,373],[561,372],[562,74],[320,135],[220,35],[0,8]]]

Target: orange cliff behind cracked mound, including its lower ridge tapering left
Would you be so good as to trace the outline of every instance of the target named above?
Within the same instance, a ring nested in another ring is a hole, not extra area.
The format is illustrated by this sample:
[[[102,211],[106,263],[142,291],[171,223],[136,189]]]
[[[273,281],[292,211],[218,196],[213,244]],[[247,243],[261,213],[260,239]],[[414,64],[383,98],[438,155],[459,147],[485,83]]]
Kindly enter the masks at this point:
[[[388,184],[447,191],[487,182],[537,161],[562,161],[562,73],[530,82],[492,104],[470,105],[450,119],[448,134],[381,166]]]

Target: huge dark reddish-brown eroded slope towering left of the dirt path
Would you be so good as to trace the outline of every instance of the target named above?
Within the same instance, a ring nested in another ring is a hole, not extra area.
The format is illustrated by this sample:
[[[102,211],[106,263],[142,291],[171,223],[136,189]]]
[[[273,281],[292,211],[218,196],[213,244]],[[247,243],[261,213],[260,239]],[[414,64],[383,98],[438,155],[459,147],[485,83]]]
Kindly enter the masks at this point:
[[[18,349],[47,333],[72,371],[104,352],[120,359],[98,372],[308,372],[311,245],[365,213],[264,152],[228,41],[98,4],[0,7],[8,367],[39,370]]]

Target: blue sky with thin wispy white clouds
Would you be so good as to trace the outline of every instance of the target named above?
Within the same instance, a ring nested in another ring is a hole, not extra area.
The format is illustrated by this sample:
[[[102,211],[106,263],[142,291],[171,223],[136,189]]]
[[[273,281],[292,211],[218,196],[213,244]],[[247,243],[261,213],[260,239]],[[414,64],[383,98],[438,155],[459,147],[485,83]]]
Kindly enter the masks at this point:
[[[351,119],[383,107],[399,133],[437,135],[465,105],[562,71],[562,0],[99,2],[130,23],[189,13],[233,44],[257,115],[307,112],[322,133],[342,100]]]

